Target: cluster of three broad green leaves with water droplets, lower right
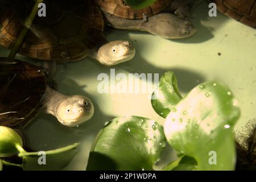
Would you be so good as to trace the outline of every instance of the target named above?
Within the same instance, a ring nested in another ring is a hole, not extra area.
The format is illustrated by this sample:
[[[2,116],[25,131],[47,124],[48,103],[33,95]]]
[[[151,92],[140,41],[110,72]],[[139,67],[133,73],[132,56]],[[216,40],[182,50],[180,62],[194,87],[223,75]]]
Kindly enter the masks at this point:
[[[152,95],[156,93],[158,98],[151,104],[156,113],[166,118],[164,130],[147,118],[113,119],[98,134],[87,169],[152,170],[166,146],[165,138],[179,159],[163,170],[234,169],[232,129],[240,109],[233,105],[228,86],[204,82],[182,98],[174,73],[167,72]]]

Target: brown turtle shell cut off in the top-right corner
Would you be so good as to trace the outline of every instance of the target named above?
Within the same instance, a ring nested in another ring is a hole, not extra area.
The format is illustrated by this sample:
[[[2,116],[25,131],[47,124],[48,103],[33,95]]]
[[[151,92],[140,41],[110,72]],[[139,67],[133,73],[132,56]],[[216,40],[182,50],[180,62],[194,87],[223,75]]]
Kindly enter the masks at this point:
[[[238,22],[256,28],[256,0],[214,0],[218,10]]]

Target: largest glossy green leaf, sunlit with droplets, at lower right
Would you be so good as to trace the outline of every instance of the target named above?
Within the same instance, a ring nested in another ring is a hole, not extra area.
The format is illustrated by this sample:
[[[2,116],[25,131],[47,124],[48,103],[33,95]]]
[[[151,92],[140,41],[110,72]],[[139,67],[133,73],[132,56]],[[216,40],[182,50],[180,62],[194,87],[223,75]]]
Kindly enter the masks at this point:
[[[197,162],[198,170],[233,170],[232,129],[240,116],[232,92],[218,82],[205,82],[176,105],[164,124],[168,143]]]

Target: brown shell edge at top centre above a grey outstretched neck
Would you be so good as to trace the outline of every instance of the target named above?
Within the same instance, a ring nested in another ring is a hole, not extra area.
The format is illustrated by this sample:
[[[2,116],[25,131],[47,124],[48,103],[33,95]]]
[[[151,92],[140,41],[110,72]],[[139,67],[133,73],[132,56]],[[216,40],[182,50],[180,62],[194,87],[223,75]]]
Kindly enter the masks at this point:
[[[152,16],[166,9],[173,0],[157,0],[151,6],[141,10],[131,9],[123,0],[95,0],[105,11],[115,16],[128,19],[141,19],[143,14]]]

